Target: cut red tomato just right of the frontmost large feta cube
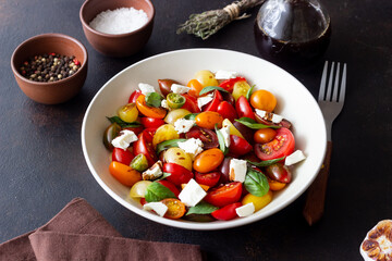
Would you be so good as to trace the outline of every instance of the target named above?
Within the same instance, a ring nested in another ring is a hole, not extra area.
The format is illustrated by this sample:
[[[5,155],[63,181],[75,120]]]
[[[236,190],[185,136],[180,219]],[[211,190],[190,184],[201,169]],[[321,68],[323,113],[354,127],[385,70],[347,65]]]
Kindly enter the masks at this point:
[[[210,189],[204,200],[217,207],[228,206],[240,200],[242,188],[240,182],[228,183]]]

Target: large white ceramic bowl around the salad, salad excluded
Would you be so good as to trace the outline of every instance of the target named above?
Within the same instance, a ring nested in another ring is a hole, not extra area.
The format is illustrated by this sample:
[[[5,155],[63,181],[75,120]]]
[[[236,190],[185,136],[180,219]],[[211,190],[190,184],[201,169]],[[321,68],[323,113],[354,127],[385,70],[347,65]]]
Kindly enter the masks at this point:
[[[278,99],[275,112],[292,122],[296,149],[307,159],[295,166],[292,183],[257,213],[232,221],[196,223],[174,221],[144,211],[128,198],[130,188],[109,173],[110,153],[102,135],[117,109],[125,104],[138,83],[158,88],[159,78],[173,78],[186,85],[199,70],[235,71],[255,84],[255,89],[270,90]],[[118,202],[151,221],[187,229],[222,229],[262,220],[298,198],[320,170],[326,152],[326,126],[321,111],[310,92],[292,75],[253,55],[220,49],[188,49],[158,54],[135,63],[112,77],[90,102],[82,126],[82,146],[88,167],[99,185]]]

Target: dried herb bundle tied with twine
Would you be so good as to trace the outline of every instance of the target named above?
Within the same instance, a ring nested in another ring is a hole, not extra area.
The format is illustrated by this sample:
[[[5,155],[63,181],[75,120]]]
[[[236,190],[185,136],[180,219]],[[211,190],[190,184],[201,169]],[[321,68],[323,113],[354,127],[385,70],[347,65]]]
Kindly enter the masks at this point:
[[[191,14],[189,20],[181,24],[176,33],[193,34],[205,40],[232,21],[249,17],[250,15],[246,14],[245,11],[261,4],[265,0],[241,0],[223,9],[210,10],[200,14]]]

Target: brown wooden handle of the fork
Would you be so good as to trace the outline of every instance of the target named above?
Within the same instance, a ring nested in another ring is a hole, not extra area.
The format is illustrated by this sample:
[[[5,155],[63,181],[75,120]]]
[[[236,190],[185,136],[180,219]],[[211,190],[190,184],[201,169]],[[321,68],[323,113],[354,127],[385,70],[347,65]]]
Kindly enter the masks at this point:
[[[328,141],[321,170],[307,191],[303,215],[310,226],[318,222],[323,214],[331,152],[332,141]]]

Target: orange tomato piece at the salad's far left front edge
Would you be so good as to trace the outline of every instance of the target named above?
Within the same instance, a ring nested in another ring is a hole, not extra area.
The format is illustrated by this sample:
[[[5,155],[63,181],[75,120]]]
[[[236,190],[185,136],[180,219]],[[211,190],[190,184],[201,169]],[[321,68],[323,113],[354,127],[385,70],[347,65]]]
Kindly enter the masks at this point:
[[[142,181],[142,174],[128,165],[112,161],[109,165],[110,174],[122,185],[132,187],[135,183]]]

